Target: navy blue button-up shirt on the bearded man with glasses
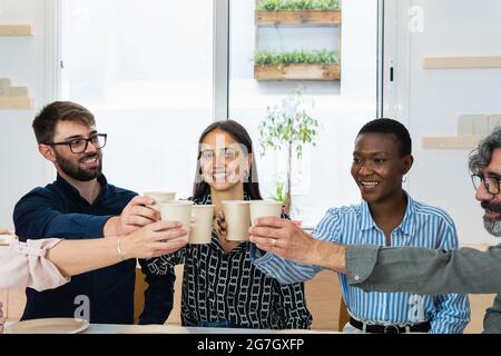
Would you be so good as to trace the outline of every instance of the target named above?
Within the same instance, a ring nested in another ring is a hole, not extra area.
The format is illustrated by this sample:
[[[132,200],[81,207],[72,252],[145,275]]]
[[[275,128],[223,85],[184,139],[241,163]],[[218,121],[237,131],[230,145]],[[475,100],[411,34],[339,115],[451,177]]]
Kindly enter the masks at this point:
[[[79,191],[58,175],[55,182],[36,188],[21,198],[13,211],[16,234],[21,241],[40,238],[101,238],[107,220],[121,214],[136,194],[109,185],[101,176],[101,192],[89,204]],[[132,324],[136,259],[73,276],[62,287],[36,291],[27,288],[22,319],[73,317],[82,300],[90,301],[90,323]],[[143,260],[139,260],[141,267]],[[173,308],[174,280],[154,276],[143,268],[149,288],[140,324],[164,324]],[[87,299],[88,298],[88,299]]]

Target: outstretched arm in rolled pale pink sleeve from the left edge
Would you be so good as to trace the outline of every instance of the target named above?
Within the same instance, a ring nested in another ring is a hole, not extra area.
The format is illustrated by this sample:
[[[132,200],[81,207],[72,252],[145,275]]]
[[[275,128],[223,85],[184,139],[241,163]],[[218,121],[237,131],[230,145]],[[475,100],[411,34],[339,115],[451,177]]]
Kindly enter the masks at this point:
[[[70,276],[129,258],[173,253],[186,241],[168,241],[187,234],[178,222],[156,222],[127,237],[91,240],[40,239],[0,249],[0,289],[28,286],[56,288]],[[167,240],[167,241],[165,241]]]

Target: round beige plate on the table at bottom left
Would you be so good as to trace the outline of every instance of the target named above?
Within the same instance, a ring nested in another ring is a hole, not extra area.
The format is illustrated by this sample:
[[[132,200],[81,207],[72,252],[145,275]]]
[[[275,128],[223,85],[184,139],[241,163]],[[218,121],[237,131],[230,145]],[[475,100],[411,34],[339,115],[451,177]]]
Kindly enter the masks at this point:
[[[89,322],[75,318],[23,320],[10,325],[7,334],[77,334],[89,327]]]

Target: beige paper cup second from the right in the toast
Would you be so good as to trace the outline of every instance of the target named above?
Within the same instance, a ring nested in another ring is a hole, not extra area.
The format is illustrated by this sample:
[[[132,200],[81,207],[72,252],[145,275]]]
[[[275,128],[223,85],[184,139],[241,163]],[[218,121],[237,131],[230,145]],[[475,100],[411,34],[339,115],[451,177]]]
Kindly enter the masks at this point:
[[[249,204],[245,200],[223,200],[223,211],[228,225],[226,239],[228,241],[248,241],[250,227]]]

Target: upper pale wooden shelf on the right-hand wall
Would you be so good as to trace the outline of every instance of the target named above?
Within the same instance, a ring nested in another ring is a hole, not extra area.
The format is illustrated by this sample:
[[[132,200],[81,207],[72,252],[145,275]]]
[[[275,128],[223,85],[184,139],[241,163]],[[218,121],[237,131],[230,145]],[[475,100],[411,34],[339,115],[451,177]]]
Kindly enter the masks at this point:
[[[424,69],[501,68],[501,57],[429,57],[423,58]]]

